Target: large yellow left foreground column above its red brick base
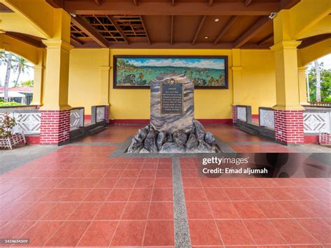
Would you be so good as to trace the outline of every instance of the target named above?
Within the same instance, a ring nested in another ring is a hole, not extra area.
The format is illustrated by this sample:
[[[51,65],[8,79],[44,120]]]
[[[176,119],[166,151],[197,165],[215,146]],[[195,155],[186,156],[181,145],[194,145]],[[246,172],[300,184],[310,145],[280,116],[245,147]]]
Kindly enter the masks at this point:
[[[68,105],[71,17],[62,9],[54,10],[54,36],[45,40],[46,72],[43,82],[43,110],[66,110]]]

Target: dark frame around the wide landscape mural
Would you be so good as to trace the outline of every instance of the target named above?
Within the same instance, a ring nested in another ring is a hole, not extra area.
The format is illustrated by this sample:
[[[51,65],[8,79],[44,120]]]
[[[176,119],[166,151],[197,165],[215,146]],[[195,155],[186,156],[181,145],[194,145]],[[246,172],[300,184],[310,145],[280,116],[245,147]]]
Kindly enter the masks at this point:
[[[113,55],[112,59],[112,88],[113,89],[149,89],[149,86],[136,86],[136,85],[117,85],[117,59],[224,59],[224,78],[226,85],[222,86],[195,86],[194,89],[228,89],[228,56],[167,56],[167,55]]]

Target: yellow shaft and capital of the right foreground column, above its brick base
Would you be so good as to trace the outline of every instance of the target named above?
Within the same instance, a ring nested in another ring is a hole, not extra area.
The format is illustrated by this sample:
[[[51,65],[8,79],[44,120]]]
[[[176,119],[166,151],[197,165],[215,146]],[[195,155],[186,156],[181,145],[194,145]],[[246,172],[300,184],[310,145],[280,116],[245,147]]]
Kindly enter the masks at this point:
[[[278,110],[303,110],[297,74],[297,46],[300,41],[280,41],[273,45]]]

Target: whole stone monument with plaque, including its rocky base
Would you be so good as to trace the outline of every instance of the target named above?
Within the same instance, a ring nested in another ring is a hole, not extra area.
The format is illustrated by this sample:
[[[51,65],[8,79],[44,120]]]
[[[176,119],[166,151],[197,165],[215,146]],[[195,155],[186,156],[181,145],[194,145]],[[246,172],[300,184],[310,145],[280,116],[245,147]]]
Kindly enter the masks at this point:
[[[150,119],[127,152],[220,152],[212,133],[194,119],[194,85],[184,74],[160,74],[152,80]]]

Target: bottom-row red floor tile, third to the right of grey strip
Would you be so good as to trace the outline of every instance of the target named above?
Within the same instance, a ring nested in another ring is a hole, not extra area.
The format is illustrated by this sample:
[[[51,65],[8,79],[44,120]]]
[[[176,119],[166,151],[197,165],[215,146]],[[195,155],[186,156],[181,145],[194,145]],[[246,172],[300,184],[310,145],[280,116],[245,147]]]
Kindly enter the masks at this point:
[[[286,245],[284,238],[266,219],[244,220],[243,222],[256,245]]]

